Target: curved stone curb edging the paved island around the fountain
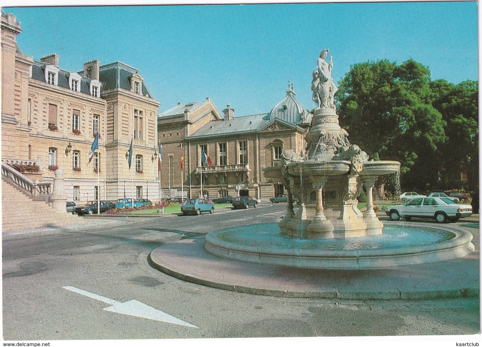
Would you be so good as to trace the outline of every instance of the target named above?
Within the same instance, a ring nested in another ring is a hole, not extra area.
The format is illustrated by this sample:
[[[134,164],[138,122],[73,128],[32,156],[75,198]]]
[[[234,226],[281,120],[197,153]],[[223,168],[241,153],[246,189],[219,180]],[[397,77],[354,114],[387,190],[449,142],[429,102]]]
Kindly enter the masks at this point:
[[[195,277],[194,275],[183,273],[182,270],[173,266],[167,267],[164,264],[156,263],[151,255],[152,252],[150,252],[147,257],[148,264],[166,275],[207,287],[254,295],[309,299],[431,300],[478,297],[480,294],[480,289],[475,288],[455,288],[434,291],[399,291],[398,289],[394,291],[338,291],[337,289],[333,289],[332,291],[290,291],[265,286],[257,286],[254,288],[250,287],[249,283],[232,284],[226,281],[214,280],[209,277]]]

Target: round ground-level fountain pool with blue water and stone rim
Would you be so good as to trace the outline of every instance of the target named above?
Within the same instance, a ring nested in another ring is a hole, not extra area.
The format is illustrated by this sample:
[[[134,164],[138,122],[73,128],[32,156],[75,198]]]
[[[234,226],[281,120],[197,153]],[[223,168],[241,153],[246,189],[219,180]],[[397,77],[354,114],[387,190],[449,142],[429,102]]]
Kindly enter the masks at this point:
[[[280,234],[278,223],[252,224],[206,235],[205,249],[250,263],[327,269],[370,269],[454,259],[474,250],[472,234],[454,227],[387,223],[383,234],[304,239]]]

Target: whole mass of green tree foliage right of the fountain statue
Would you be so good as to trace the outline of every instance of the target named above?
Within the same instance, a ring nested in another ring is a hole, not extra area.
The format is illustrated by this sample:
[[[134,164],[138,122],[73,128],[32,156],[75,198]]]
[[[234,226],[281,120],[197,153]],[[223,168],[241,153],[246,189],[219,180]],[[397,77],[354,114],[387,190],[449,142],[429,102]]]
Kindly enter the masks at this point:
[[[351,66],[339,85],[350,141],[375,160],[400,161],[402,188],[449,189],[446,173],[460,174],[475,160],[478,172],[477,82],[432,81],[413,59],[385,59]]]

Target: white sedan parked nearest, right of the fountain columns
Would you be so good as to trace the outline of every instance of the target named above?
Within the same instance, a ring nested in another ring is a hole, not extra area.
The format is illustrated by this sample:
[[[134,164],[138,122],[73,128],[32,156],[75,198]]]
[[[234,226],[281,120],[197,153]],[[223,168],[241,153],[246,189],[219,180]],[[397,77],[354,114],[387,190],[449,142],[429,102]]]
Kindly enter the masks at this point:
[[[410,221],[412,217],[421,217],[444,223],[469,217],[472,215],[472,206],[456,204],[446,197],[418,197],[405,205],[389,206],[386,212],[392,221],[397,221],[401,217],[405,221]]]

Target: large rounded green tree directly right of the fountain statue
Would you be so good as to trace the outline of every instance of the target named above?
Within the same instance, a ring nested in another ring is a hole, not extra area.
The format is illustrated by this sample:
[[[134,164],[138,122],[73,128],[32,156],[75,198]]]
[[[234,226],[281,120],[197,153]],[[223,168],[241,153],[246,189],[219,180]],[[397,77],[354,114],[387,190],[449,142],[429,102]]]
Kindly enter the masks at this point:
[[[437,150],[446,122],[432,106],[427,67],[407,60],[351,66],[336,94],[340,123],[372,158],[401,162],[402,187],[427,189],[438,180]],[[442,88],[441,88],[442,89]]]

